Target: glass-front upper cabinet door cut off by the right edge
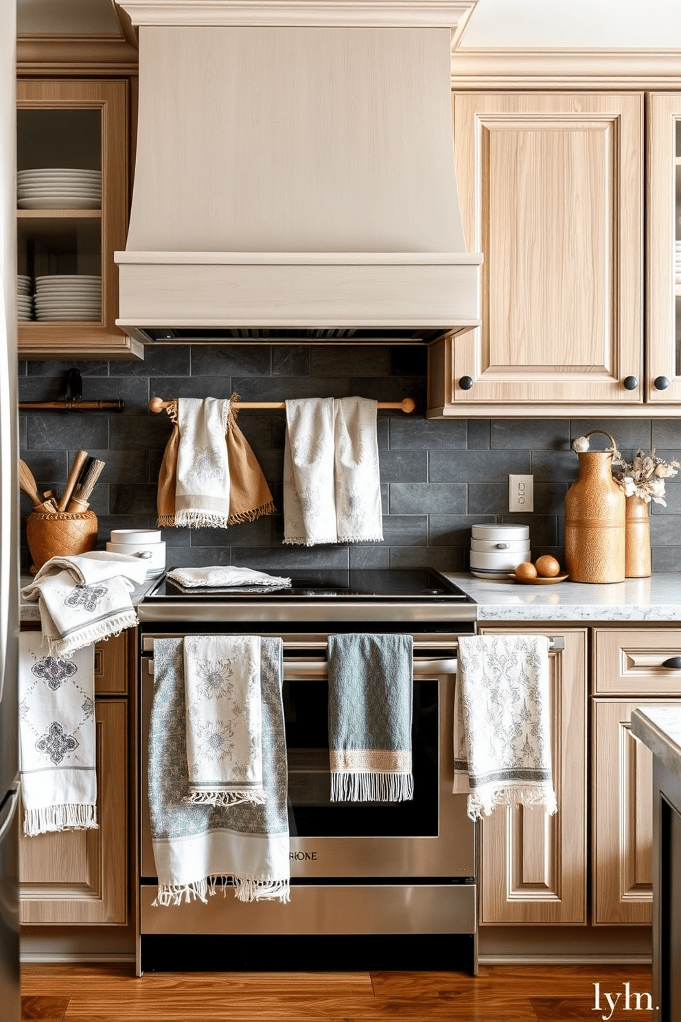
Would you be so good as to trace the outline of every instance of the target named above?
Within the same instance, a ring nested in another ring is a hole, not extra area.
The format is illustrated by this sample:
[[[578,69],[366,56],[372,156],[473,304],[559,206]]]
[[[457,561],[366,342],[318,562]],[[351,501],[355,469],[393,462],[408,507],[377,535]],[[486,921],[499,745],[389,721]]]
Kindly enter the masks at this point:
[[[647,400],[681,401],[681,95],[647,109]]]

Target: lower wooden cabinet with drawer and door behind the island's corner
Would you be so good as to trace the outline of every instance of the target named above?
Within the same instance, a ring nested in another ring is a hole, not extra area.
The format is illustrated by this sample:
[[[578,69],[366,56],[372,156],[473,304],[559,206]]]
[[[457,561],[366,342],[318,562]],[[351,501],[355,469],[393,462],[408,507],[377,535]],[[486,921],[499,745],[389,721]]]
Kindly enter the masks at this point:
[[[631,734],[636,706],[681,696],[681,631],[594,631],[591,698],[594,925],[652,921],[652,754]]]

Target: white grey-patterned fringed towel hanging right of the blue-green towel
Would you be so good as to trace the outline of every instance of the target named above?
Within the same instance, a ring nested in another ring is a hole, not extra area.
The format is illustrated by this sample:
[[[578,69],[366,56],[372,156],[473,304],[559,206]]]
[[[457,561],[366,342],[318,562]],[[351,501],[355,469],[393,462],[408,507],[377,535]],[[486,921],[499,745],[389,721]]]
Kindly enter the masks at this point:
[[[459,637],[453,791],[469,792],[472,820],[495,805],[556,811],[545,636]]]

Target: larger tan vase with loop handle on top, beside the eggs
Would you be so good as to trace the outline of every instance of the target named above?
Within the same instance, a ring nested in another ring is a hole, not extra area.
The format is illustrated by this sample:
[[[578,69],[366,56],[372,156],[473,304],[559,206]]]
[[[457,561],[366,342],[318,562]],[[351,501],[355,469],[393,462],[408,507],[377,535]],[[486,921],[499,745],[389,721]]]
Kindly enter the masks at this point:
[[[592,429],[587,433],[602,433]],[[610,433],[604,433],[617,448]],[[571,582],[624,582],[624,491],[613,478],[612,451],[582,451],[579,475],[566,494],[565,551]]]

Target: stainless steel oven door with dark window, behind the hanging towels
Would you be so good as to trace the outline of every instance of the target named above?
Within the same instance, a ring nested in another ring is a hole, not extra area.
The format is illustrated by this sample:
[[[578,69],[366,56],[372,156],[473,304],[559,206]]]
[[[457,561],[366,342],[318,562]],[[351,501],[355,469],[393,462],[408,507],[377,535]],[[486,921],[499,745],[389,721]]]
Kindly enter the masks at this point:
[[[141,876],[146,879],[155,877],[146,777],[153,639],[146,634],[141,643]],[[452,794],[456,636],[414,636],[414,799],[396,803],[330,801],[327,636],[283,639],[292,881],[475,877],[475,825],[466,796]]]

